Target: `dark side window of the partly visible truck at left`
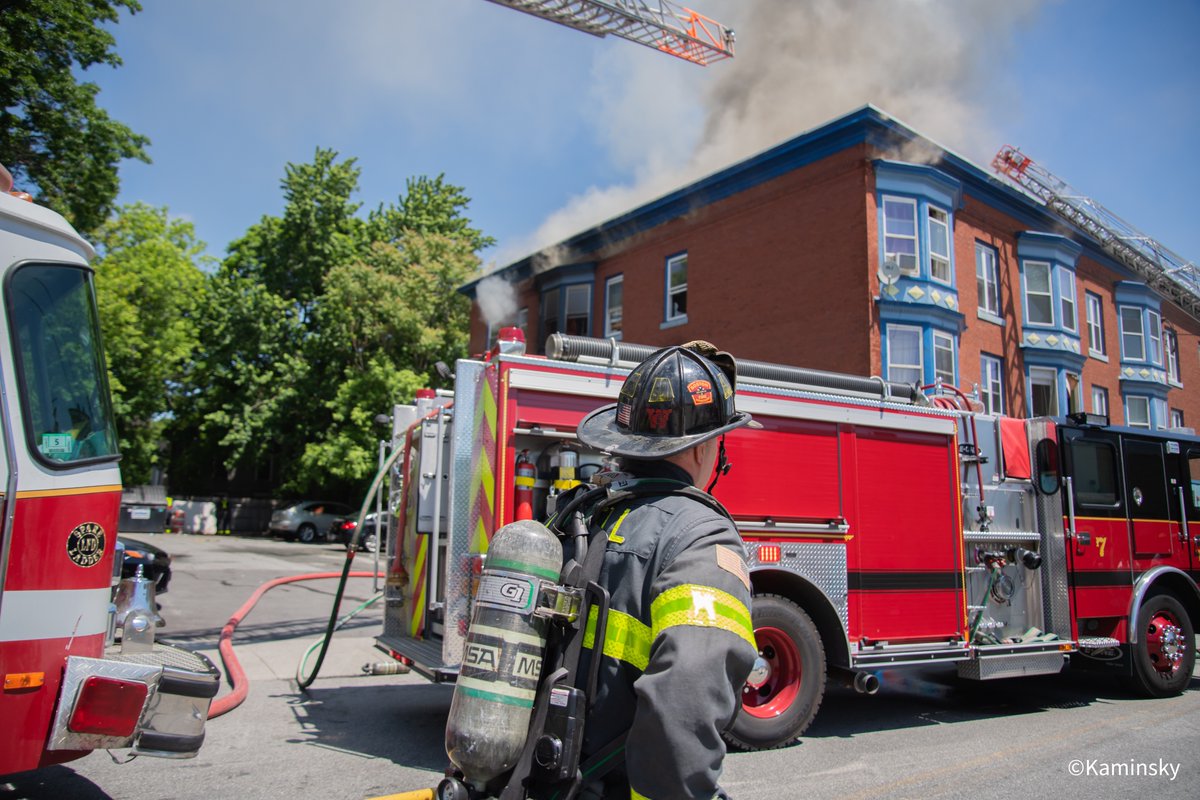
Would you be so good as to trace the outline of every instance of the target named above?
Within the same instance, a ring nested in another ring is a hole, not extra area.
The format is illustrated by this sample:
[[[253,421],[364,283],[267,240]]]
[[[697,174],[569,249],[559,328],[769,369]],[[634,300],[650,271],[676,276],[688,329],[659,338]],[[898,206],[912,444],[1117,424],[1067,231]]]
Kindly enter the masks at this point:
[[[7,294],[34,456],[52,467],[115,458],[91,271],[24,265],[12,273]]]

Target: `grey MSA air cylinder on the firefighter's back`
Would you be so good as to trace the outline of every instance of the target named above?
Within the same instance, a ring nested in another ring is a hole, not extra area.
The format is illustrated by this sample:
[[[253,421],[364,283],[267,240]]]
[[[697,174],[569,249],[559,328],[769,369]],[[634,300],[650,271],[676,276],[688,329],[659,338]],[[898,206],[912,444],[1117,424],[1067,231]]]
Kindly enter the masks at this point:
[[[504,525],[488,546],[446,721],[446,754],[479,789],[524,746],[546,650],[547,621],[533,612],[562,566],[562,543],[532,519]]]

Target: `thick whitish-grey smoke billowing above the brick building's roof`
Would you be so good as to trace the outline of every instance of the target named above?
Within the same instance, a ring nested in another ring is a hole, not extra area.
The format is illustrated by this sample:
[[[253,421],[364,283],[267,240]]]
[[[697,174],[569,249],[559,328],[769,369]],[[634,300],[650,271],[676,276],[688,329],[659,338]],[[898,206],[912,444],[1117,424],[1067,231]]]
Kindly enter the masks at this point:
[[[1006,79],[1013,35],[1045,1],[704,0],[702,13],[734,29],[736,58],[701,68],[628,43],[606,52],[601,85],[624,94],[618,100],[606,89],[595,122],[604,126],[612,162],[632,179],[586,188],[524,241],[505,247],[499,260],[560,241],[868,103],[988,163],[1001,144],[992,120],[1019,107],[1018,90]],[[697,95],[698,103],[684,102]],[[896,156],[926,161],[931,154]]]

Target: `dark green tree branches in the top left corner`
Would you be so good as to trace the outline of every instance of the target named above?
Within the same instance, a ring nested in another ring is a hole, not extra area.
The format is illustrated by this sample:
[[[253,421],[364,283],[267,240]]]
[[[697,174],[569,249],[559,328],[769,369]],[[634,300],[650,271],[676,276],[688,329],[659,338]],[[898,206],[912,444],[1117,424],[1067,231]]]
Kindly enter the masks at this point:
[[[113,207],[125,158],[149,162],[150,140],[96,104],[100,88],[76,70],[120,66],[116,23],[137,0],[0,1],[0,163],[17,185],[70,219],[95,230]]]

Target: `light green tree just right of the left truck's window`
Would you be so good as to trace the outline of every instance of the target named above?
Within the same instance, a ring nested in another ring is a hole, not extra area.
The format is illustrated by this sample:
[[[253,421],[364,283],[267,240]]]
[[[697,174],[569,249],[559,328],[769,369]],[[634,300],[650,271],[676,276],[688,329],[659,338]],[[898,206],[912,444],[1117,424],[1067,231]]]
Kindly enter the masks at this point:
[[[96,231],[96,301],[128,483],[145,483],[185,391],[205,305],[204,243],[190,222],[138,203]]]

